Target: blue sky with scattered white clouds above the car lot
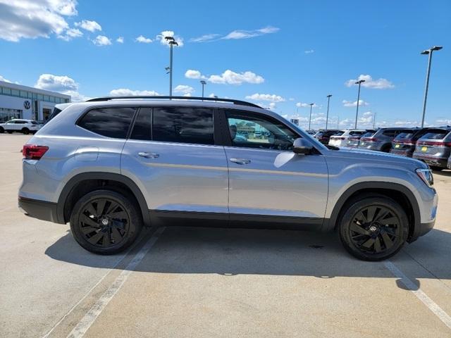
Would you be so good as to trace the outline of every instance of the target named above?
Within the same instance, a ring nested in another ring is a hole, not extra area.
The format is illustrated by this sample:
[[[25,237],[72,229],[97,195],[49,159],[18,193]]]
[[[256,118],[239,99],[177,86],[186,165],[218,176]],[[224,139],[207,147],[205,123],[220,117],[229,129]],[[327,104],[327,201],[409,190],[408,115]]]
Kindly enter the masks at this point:
[[[315,103],[313,125],[419,125],[434,52],[426,123],[451,125],[451,1],[0,0],[0,80],[72,94],[175,94],[247,99],[288,118]],[[118,38],[122,37],[122,39]],[[200,41],[199,41],[200,40]],[[121,42],[122,41],[122,42]],[[190,72],[187,72],[191,70]],[[121,90],[119,90],[121,89]],[[297,107],[299,106],[299,107]]]

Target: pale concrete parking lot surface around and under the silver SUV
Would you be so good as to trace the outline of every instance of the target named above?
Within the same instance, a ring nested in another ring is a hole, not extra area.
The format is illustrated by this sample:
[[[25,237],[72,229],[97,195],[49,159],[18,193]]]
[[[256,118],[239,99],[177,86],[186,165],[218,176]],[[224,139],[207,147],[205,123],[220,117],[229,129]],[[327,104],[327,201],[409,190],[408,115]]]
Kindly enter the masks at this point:
[[[18,211],[29,138],[0,134],[1,337],[451,337],[451,170],[435,229],[390,261],[335,234],[192,227],[96,256]]]

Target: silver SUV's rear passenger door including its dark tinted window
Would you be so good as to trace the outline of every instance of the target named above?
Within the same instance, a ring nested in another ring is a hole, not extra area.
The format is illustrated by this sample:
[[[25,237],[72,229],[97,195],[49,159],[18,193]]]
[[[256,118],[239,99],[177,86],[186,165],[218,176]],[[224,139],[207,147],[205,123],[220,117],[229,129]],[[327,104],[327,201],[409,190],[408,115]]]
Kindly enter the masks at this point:
[[[210,108],[140,108],[125,142],[121,173],[140,185],[154,214],[228,218],[226,154],[215,144]]]

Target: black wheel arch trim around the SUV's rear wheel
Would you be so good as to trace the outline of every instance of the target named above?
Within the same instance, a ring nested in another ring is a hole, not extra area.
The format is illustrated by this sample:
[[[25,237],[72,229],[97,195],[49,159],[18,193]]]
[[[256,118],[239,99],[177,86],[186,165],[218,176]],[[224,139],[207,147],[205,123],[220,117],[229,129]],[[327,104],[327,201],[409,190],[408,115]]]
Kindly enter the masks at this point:
[[[149,208],[146,199],[137,184],[129,177],[116,173],[80,173],[72,177],[61,190],[61,194],[56,206],[58,223],[67,223],[70,218],[70,211],[80,194],[87,194],[98,188],[109,187],[118,192],[131,194],[137,205],[140,207],[144,226],[150,226]]]

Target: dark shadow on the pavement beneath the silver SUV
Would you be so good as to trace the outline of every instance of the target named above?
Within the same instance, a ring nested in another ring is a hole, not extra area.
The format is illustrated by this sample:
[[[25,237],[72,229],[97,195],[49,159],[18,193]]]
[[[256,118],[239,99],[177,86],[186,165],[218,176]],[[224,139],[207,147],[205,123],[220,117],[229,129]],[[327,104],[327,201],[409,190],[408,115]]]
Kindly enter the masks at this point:
[[[142,242],[146,240],[144,238]],[[133,251],[138,251],[140,246],[142,243]],[[406,268],[409,278],[419,287],[421,278],[451,280],[451,265],[447,263],[450,253],[451,234],[432,230],[425,237],[404,246],[403,251],[390,261],[401,270]],[[58,261],[94,268],[115,268],[115,263],[106,259],[106,256],[82,249],[70,232],[49,246],[46,254]],[[413,256],[421,259],[414,260]],[[423,263],[432,266],[433,275],[421,267]],[[393,278],[383,263],[359,261],[350,256],[334,233],[205,227],[166,227],[135,270],[148,273],[216,273],[226,276],[259,274]],[[402,283],[397,284],[404,288]]]

